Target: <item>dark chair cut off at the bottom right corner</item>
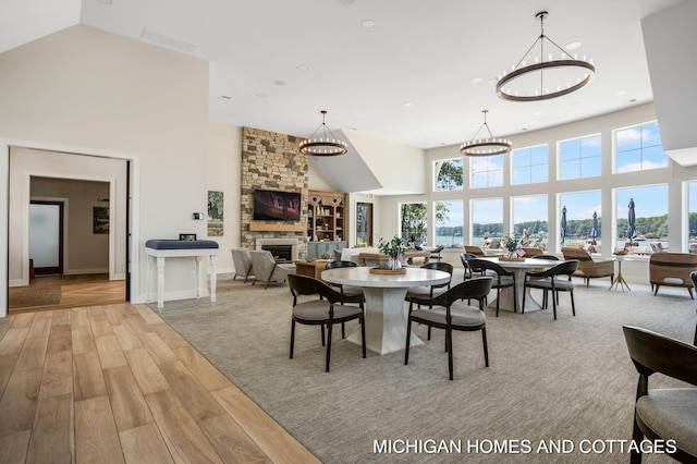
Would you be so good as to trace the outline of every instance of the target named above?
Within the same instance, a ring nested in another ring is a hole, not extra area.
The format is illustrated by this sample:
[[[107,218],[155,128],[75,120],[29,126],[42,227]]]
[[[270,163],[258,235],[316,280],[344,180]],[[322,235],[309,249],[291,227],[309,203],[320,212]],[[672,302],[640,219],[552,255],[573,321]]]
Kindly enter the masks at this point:
[[[639,327],[622,330],[639,373],[633,441],[672,440],[667,454],[680,462],[697,462],[697,388],[649,390],[649,377],[656,373],[697,386],[697,347]],[[641,462],[641,447],[632,449],[631,462]]]

